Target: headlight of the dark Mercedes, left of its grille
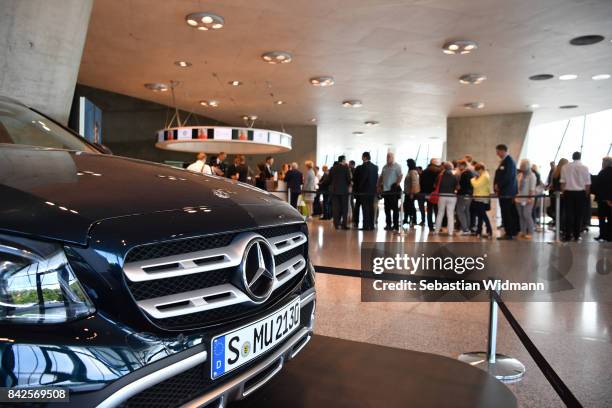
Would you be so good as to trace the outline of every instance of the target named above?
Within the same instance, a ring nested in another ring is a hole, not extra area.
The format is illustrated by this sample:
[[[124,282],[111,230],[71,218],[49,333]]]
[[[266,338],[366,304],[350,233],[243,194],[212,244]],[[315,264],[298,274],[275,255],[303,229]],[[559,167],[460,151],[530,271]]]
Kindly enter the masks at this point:
[[[0,322],[61,323],[94,312],[61,246],[0,239]]]

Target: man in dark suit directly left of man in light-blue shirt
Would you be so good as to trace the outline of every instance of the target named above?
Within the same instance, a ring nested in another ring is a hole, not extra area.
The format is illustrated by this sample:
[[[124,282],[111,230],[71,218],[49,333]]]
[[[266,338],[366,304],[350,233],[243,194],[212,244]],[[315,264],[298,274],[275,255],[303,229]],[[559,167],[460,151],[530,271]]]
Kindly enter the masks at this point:
[[[359,225],[359,209],[363,207],[363,230],[374,229],[374,197],[378,183],[378,166],[370,161],[370,152],[361,156],[363,164],[355,168],[353,177],[353,193],[355,194],[355,208],[353,210],[353,223]]]

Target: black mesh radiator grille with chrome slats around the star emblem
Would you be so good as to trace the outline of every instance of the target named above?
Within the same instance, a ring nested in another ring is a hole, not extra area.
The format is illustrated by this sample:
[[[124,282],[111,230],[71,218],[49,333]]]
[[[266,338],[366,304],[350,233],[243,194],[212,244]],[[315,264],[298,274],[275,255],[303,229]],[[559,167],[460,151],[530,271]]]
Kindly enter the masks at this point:
[[[198,327],[261,308],[241,286],[245,247],[265,238],[275,261],[270,304],[303,276],[308,245],[302,224],[213,235],[133,248],[126,284],[138,307],[162,328]],[[294,283],[291,283],[294,281]]]

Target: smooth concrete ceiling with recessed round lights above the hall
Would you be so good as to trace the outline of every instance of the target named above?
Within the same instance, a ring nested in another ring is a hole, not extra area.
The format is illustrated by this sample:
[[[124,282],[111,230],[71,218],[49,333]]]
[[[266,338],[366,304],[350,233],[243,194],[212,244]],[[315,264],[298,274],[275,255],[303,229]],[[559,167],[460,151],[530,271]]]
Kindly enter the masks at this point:
[[[191,12],[225,18],[217,31],[185,23]],[[146,82],[180,81],[177,104],[186,110],[257,127],[312,124],[319,149],[358,144],[402,144],[443,139],[447,116],[523,112],[537,103],[536,122],[612,107],[612,1],[610,0],[97,0],[79,82],[170,104]],[[605,41],[576,47],[575,36]],[[467,38],[479,48],[445,55],[446,40]],[[285,50],[290,64],[270,65],[260,55]],[[187,60],[190,68],[173,63]],[[458,77],[483,73],[480,85]],[[529,76],[574,73],[579,78],[535,82]],[[331,75],[336,84],[317,88],[308,79]],[[230,80],[244,85],[232,87]],[[220,107],[203,108],[202,99]],[[285,105],[273,102],[282,99]],[[364,106],[349,109],[344,99]],[[478,111],[463,103],[482,101]],[[578,109],[558,106],[577,104]],[[380,125],[366,128],[363,122]],[[364,131],[354,136],[353,131]]]

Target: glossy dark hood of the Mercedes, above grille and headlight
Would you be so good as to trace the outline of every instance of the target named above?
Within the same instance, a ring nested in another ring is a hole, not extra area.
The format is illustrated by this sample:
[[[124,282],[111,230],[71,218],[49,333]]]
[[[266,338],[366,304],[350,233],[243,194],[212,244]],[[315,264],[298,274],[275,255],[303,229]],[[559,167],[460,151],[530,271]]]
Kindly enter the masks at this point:
[[[258,225],[258,217],[270,223],[275,212],[277,223],[300,220],[274,195],[226,178],[118,156],[19,146],[0,147],[0,197],[0,231],[81,245],[93,225],[118,217],[210,212],[224,215],[216,220],[218,229]]]

